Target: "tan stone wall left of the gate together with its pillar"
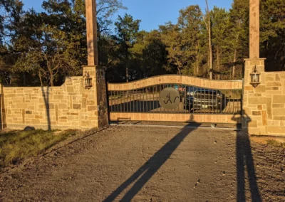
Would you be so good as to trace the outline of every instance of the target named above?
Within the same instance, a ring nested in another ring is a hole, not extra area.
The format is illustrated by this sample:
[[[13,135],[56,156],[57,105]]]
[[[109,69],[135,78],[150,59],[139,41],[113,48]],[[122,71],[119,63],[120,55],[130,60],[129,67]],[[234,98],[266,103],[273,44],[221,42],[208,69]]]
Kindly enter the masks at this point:
[[[2,128],[90,129],[108,124],[102,95],[105,78],[95,74],[102,70],[95,66],[83,69],[93,78],[89,90],[82,76],[66,78],[60,87],[1,87]]]

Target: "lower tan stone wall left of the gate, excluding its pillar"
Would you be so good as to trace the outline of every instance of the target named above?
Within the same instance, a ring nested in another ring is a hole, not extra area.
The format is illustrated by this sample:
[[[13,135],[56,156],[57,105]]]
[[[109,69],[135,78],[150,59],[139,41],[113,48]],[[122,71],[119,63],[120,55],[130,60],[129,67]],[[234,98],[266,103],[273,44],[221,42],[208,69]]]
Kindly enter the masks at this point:
[[[81,128],[82,78],[61,87],[3,87],[6,127]]]

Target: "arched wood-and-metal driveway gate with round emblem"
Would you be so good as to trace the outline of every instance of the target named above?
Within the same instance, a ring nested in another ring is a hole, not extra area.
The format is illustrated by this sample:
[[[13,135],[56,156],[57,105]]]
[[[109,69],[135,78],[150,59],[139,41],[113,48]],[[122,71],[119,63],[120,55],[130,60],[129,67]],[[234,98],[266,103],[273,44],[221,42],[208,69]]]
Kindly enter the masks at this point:
[[[108,83],[110,120],[240,124],[242,80],[161,75]]]

